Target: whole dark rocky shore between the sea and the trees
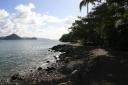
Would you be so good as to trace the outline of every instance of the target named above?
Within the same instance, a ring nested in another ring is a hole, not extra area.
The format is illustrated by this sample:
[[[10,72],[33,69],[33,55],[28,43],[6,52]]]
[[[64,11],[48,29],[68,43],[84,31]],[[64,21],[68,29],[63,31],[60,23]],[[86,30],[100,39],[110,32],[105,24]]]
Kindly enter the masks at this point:
[[[54,56],[55,63],[26,75],[14,74],[0,85],[128,85],[127,52],[76,44],[49,50],[62,52]]]

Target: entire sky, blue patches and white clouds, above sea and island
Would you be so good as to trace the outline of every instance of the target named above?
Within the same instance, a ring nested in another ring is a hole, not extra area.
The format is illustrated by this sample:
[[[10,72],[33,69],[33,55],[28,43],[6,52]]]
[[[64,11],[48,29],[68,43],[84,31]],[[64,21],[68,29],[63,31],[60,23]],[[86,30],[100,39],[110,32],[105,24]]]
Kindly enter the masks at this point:
[[[0,36],[59,39],[78,16],[80,0],[1,0]]]

